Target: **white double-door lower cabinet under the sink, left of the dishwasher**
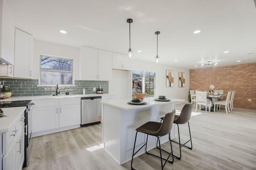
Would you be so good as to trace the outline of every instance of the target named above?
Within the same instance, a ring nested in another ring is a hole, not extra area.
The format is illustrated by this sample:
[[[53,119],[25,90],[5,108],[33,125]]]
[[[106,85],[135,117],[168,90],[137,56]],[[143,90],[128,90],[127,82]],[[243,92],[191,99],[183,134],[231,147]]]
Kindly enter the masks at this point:
[[[33,109],[32,117],[32,137],[80,127],[80,98],[48,100],[49,99],[33,101],[35,108]],[[65,127],[66,129],[61,129]]]

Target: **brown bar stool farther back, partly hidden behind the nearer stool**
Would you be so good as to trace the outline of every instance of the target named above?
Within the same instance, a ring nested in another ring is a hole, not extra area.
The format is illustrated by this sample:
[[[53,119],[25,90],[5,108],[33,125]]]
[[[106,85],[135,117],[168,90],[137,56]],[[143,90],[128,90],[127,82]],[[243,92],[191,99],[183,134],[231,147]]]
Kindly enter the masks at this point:
[[[179,142],[176,142],[176,141],[173,141],[174,143],[177,143],[180,145],[180,156],[175,156],[173,155],[174,157],[176,157],[177,159],[181,159],[181,147],[186,147],[188,149],[192,149],[192,139],[191,139],[191,133],[190,133],[190,127],[189,127],[189,120],[190,120],[190,117],[191,117],[191,113],[192,113],[192,109],[193,109],[193,104],[185,104],[183,107],[182,107],[182,110],[180,111],[180,115],[175,115],[174,117],[174,121],[173,123],[175,123],[177,126],[178,126],[178,135],[179,135]],[[164,117],[161,117],[160,119],[164,119]],[[162,121],[161,120],[161,121]],[[188,122],[188,130],[189,130],[189,136],[190,136],[190,139],[188,141],[186,141],[186,143],[184,144],[180,144],[180,129],[179,129],[179,124],[185,124]],[[185,146],[188,142],[190,141],[191,143],[191,147],[187,147]],[[157,147],[158,148],[158,147]],[[160,147],[158,148],[160,149]],[[165,150],[163,150],[164,152],[166,152]]]

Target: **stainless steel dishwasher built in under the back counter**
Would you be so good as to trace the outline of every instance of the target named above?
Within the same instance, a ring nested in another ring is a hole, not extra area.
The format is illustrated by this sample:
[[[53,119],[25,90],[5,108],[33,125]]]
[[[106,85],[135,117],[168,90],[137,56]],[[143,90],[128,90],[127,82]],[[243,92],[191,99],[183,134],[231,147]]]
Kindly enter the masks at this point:
[[[81,127],[100,123],[101,96],[81,98]]]

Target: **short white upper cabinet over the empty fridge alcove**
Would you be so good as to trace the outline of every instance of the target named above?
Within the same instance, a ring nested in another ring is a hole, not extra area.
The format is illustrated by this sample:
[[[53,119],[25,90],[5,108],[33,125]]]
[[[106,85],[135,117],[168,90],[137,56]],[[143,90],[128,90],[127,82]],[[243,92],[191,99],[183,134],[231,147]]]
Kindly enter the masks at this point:
[[[131,70],[131,61],[128,55],[112,52],[112,68],[118,70]]]

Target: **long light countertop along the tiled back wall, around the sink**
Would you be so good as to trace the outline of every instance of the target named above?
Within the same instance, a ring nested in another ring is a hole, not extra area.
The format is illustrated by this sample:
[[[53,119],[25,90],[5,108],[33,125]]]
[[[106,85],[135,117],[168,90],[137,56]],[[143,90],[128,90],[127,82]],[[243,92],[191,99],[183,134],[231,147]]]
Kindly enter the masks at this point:
[[[0,99],[0,102],[17,101],[17,100],[40,100],[46,98],[74,98],[74,97],[91,97],[91,96],[115,96],[115,94],[70,94],[59,96],[22,96],[22,97],[10,97],[7,99]]]

